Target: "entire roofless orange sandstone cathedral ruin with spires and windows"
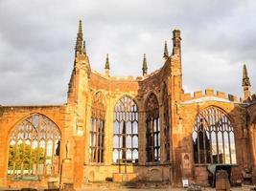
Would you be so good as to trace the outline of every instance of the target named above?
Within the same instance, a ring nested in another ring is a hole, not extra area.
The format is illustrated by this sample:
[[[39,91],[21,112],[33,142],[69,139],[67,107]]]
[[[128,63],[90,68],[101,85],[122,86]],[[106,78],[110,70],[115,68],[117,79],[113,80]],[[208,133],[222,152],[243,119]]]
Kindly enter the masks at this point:
[[[256,96],[244,65],[244,97],[212,89],[185,94],[181,36],[163,66],[117,77],[93,70],[81,21],[66,102],[0,106],[0,187],[82,188],[96,182],[207,184],[229,169],[231,184],[256,182]],[[239,88],[239,86],[238,86]]]

